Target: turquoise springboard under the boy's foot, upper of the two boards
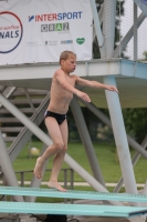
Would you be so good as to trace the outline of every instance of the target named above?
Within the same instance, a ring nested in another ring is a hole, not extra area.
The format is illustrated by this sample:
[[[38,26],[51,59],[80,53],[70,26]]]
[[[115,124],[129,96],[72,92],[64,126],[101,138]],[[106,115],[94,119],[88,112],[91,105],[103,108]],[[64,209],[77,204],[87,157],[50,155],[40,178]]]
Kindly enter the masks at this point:
[[[32,195],[45,198],[70,198],[85,200],[109,200],[109,201],[126,201],[126,202],[147,202],[147,195],[128,194],[128,193],[106,193],[106,192],[90,192],[69,190],[61,192],[55,189],[39,189],[39,188],[15,188],[0,186],[0,194],[8,195]]]

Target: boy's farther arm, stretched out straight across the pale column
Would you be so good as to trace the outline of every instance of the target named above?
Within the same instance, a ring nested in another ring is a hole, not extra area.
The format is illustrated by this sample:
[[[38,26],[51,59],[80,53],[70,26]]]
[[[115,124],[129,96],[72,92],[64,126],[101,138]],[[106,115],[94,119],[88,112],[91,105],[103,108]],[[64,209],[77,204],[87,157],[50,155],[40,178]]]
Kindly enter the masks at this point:
[[[118,90],[114,85],[103,84],[97,81],[85,80],[80,77],[76,77],[76,84],[82,85],[82,87],[91,87],[95,89],[105,89],[105,90],[115,91],[118,93]]]

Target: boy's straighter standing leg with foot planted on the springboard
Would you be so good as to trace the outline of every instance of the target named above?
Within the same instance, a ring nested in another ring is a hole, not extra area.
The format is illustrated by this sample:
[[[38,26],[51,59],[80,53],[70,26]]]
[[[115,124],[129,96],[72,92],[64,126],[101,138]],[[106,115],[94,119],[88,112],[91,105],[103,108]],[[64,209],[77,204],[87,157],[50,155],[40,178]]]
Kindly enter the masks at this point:
[[[66,149],[67,149],[67,138],[69,138],[69,130],[67,130],[67,122],[66,120],[64,120],[64,122],[60,125],[60,130],[61,130],[61,134],[63,138],[63,142],[64,142],[64,148],[61,152],[59,152],[54,160],[53,160],[53,168],[52,168],[52,172],[51,172],[51,178],[49,181],[49,186],[51,188],[56,188],[60,191],[66,191],[65,189],[63,189],[59,182],[57,182],[57,178],[59,178],[59,173],[64,160],[64,155],[66,153]]]

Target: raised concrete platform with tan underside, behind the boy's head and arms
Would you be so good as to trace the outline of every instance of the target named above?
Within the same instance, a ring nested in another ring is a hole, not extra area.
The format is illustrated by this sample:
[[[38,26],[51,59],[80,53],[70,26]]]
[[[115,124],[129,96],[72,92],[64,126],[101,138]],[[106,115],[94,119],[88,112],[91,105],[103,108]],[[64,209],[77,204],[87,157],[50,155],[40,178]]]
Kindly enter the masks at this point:
[[[0,67],[0,85],[50,90],[53,73],[59,63],[38,63]],[[77,62],[74,74],[103,82],[114,75],[119,90],[122,108],[147,107],[147,63],[124,59]],[[90,94],[98,108],[107,108],[104,90],[80,88]]]

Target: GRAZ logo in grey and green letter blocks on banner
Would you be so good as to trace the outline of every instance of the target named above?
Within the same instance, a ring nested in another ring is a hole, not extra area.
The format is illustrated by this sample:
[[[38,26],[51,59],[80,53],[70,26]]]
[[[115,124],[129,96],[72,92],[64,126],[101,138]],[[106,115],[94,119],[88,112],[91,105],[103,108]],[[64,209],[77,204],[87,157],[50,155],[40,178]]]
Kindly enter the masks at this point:
[[[41,24],[41,32],[48,31],[69,31],[70,24],[69,22],[64,23],[52,23],[52,24]]]

